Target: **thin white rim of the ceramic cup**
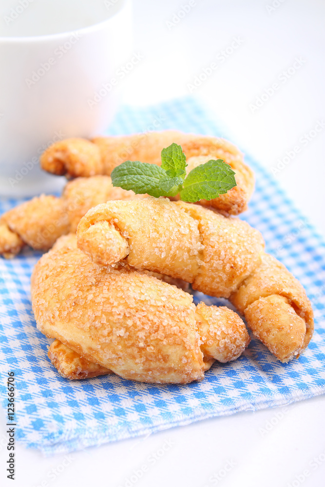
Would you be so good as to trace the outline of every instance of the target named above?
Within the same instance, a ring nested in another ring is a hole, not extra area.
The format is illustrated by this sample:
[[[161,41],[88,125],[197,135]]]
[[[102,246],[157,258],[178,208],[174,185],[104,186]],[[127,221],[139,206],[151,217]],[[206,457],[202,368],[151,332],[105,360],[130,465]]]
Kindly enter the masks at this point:
[[[130,0],[121,0],[121,5],[120,8],[111,16],[108,17],[105,20],[101,20],[100,22],[96,22],[95,24],[88,25],[87,27],[81,27],[80,29],[74,29],[70,31],[64,31],[64,32],[58,32],[57,34],[40,34],[39,36],[0,36],[0,43],[5,43],[5,42],[12,42],[12,43],[18,43],[18,42],[42,42],[42,41],[48,41],[48,40],[56,40],[60,38],[65,38],[68,36],[72,36],[76,32],[79,34],[89,34],[92,33],[96,30],[99,30],[103,24],[106,24],[110,20],[114,19],[117,15],[119,15],[127,6],[127,4],[130,4]]]

